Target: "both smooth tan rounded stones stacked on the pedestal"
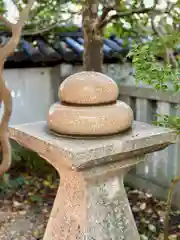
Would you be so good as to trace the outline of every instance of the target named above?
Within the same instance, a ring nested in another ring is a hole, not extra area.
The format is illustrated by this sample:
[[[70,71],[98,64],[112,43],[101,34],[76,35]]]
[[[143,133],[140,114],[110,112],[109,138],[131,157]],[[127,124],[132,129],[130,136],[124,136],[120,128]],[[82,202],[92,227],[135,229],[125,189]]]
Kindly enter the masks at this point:
[[[61,103],[51,106],[47,119],[55,133],[102,136],[120,133],[132,125],[132,109],[117,100],[117,84],[102,73],[83,71],[67,77],[58,96]]]

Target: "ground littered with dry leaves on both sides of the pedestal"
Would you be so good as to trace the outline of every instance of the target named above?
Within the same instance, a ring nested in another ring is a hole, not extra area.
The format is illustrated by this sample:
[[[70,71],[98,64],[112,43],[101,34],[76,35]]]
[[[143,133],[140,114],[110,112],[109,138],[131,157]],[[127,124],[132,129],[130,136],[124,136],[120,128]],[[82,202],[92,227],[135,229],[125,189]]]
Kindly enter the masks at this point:
[[[56,194],[58,180],[23,175],[18,184],[0,188],[0,240],[41,240]],[[126,187],[142,240],[163,239],[165,203]],[[45,201],[46,200],[46,201]],[[170,240],[180,239],[180,211],[173,209]]]

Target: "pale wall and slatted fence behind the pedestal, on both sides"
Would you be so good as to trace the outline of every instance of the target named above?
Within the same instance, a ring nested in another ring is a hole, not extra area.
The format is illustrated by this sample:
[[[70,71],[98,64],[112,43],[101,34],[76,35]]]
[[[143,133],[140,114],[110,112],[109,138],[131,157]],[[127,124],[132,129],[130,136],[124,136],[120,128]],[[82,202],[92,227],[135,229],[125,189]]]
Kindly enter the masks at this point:
[[[62,64],[53,69],[5,70],[4,78],[14,99],[11,124],[45,120],[50,105],[57,100],[60,82],[80,67]],[[156,114],[180,115],[176,106],[180,94],[156,92],[149,86],[136,86],[130,64],[107,65],[104,72],[119,85],[120,99],[131,105],[135,119],[152,123]],[[165,197],[171,179],[180,175],[180,144],[149,155],[149,161],[134,169],[127,181]],[[180,197],[176,191],[175,202]]]

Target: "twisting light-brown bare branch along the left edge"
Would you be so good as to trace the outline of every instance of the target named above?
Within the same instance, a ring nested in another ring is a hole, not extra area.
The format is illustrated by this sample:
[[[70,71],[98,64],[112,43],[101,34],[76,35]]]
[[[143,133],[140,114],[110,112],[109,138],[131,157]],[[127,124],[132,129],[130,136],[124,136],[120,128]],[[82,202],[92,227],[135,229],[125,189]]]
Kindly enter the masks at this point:
[[[6,87],[5,82],[3,81],[2,72],[6,58],[14,52],[19,43],[22,27],[28,18],[33,2],[34,0],[28,1],[26,7],[19,14],[19,20],[16,24],[13,24],[3,16],[0,16],[0,20],[12,31],[12,37],[10,40],[0,48],[0,101],[4,104],[4,112],[0,123],[0,144],[2,150],[0,176],[9,169],[12,161],[11,146],[8,137],[8,123],[12,112],[12,96],[11,91]]]

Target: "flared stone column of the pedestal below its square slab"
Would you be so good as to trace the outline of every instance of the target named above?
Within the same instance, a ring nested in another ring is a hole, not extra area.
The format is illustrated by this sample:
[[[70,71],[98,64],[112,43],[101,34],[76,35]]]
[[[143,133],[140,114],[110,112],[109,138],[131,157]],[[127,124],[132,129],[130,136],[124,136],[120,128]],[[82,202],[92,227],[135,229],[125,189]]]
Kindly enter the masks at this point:
[[[61,169],[44,240],[139,240],[124,173],[122,164],[83,173]]]

